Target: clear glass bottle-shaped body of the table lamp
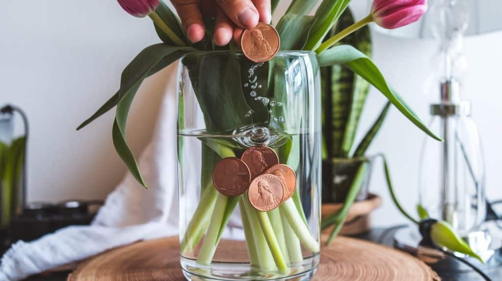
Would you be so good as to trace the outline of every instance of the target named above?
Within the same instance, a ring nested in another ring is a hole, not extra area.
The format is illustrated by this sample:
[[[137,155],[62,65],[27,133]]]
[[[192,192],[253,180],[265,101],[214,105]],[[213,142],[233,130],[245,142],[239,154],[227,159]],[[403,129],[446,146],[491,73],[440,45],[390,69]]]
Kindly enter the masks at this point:
[[[462,107],[466,104],[460,104]],[[431,217],[448,221],[463,236],[486,214],[484,166],[477,126],[468,114],[434,115],[429,128],[444,142],[424,141],[419,200]]]

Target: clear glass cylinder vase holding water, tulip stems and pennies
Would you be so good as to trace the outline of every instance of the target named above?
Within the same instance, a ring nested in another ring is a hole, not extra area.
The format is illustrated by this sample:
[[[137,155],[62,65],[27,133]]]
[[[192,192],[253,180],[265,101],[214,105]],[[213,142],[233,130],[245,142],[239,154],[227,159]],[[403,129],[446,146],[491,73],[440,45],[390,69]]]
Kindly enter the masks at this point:
[[[178,78],[185,276],[309,279],[321,209],[315,53],[253,63],[241,52],[194,52],[181,59]]]

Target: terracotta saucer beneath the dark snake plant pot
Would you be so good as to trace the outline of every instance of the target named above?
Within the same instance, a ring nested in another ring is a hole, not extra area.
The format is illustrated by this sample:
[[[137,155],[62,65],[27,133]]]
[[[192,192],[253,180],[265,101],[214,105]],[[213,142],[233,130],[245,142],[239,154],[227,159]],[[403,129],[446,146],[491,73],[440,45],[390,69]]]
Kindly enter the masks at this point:
[[[379,195],[368,193],[364,200],[356,201],[350,207],[347,219],[340,230],[340,235],[359,235],[371,230],[370,214],[371,212],[382,205],[382,198]],[[330,214],[338,211],[343,206],[343,203],[323,203],[321,209],[321,218],[324,219]],[[323,233],[329,235],[333,230],[333,226],[322,230]]]

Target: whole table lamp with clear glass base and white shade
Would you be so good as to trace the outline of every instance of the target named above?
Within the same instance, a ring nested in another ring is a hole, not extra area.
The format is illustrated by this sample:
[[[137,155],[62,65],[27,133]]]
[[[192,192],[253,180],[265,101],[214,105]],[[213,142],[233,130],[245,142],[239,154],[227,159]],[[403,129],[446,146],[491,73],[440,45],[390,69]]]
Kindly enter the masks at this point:
[[[487,218],[498,217],[486,203],[479,134],[470,116],[470,102],[462,96],[467,69],[462,41],[464,36],[502,29],[502,21],[493,13],[500,9],[499,0],[435,0],[429,1],[429,10],[417,23],[396,30],[375,27],[375,31],[393,37],[435,38],[438,42],[426,91],[431,100],[429,126],[444,142],[424,141],[419,165],[419,203],[431,217],[448,221],[462,235],[487,261],[485,265],[477,264],[483,268],[501,263],[502,235],[496,223],[487,222]],[[439,252],[420,253],[420,240],[418,230],[411,228],[398,231],[394,238],[398,248],[443,267],[439,270],[469,269],[461,264],[441,263]]]

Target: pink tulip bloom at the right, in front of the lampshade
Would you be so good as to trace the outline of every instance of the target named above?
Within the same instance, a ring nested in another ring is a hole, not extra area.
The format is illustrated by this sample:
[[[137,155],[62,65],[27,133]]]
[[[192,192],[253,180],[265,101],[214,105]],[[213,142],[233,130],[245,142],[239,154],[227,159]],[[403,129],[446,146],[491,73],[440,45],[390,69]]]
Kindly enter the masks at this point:
[[[418,21],[425,11],[427,0],[374,0],[370,15],[377,25],[396,29]]]

